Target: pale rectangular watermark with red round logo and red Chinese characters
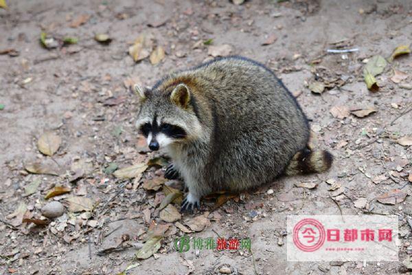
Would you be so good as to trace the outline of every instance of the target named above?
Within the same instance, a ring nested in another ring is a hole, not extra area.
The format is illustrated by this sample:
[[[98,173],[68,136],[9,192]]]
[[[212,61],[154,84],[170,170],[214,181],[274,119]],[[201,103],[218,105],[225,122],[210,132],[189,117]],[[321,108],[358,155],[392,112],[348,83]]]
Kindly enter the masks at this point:
[[[398,261],[398,217],[288,216],[288,261]]]

